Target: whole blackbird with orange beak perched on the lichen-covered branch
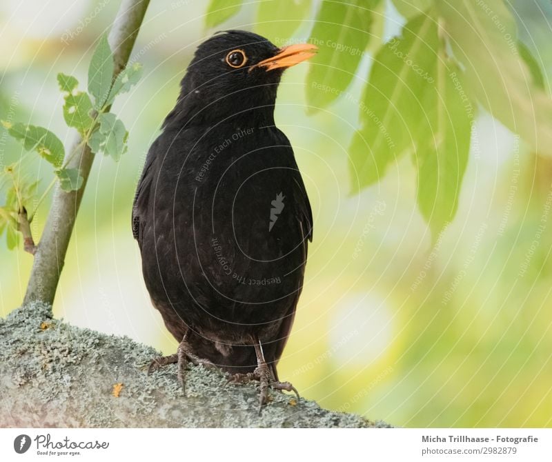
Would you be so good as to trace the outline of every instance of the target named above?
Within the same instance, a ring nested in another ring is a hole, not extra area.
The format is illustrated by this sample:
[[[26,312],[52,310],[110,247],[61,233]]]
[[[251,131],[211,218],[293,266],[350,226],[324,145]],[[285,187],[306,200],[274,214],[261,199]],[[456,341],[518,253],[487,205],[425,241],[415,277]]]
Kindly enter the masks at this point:
[[[302,291],[313,217],[286,135],[274,122],[284,70],[316,47],[277,48],[242,30],[201,43],[175,108],[152,143],[132,208],[132,232],[152,304],[188,361],[229,381],[295,390],[276,371]]]

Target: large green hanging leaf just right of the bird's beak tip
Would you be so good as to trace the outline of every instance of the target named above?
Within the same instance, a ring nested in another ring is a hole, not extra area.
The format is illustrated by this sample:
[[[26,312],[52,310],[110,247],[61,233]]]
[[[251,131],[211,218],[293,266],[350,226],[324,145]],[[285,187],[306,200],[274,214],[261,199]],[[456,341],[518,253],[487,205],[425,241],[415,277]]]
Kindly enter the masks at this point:
[[[310,110],[324,108],[349,86],[368,45],[380,0],[322,1],[309,43],[318,46],[307,75]]]

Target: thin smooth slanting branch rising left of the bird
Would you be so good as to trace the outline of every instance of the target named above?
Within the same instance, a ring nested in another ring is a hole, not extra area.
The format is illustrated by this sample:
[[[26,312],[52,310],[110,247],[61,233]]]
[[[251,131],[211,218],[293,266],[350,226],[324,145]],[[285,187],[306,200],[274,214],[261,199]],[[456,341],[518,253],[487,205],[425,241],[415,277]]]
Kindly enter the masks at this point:
[[[123,0],[121,3],[109,34],[109,43],[115,60],[114,79],[128,62],[149,3],[149,0]],[[81,141],[81,137],[77,137],[72,149],[67,152],[72,153]],[[67,165],[68,168],[79,168],[81,177],[83,177],[81,188],[77,191],[65,192],[59,188],[59,185],[56,186],[48,219],[46,219],[42,237],[34,254],[32,271],[23,303],[43,301],[51,304],[54,301],[75,219],[77,219],[90,168],[92,168],[92,161],[94,161],[94,154],[90,152],[88,145],[84,145]]]

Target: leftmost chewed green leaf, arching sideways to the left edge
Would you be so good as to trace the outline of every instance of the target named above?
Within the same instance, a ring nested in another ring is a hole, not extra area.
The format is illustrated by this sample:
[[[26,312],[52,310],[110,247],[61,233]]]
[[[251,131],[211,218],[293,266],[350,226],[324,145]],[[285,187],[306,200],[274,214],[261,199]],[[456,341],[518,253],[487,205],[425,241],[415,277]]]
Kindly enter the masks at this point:
[[[24,125],[23,123],[10,123],[2,121],[2,125],[8,129],[8,133],[21,143],[27,151],[35,150],[43,159],[55,167],[59,167],[65,156],[63,143],[55,134],[43,127]]]

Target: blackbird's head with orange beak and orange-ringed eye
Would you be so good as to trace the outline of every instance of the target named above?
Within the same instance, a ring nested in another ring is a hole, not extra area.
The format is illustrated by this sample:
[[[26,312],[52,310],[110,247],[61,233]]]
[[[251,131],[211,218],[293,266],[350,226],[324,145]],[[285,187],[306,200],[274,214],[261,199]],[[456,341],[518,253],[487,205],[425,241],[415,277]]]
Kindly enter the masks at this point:
[[[272,119],[282,73],[316,51],[308,43],[278,48],[244,30],[217,32],[197,48],[165,123],[218,123],[249,111]]]

